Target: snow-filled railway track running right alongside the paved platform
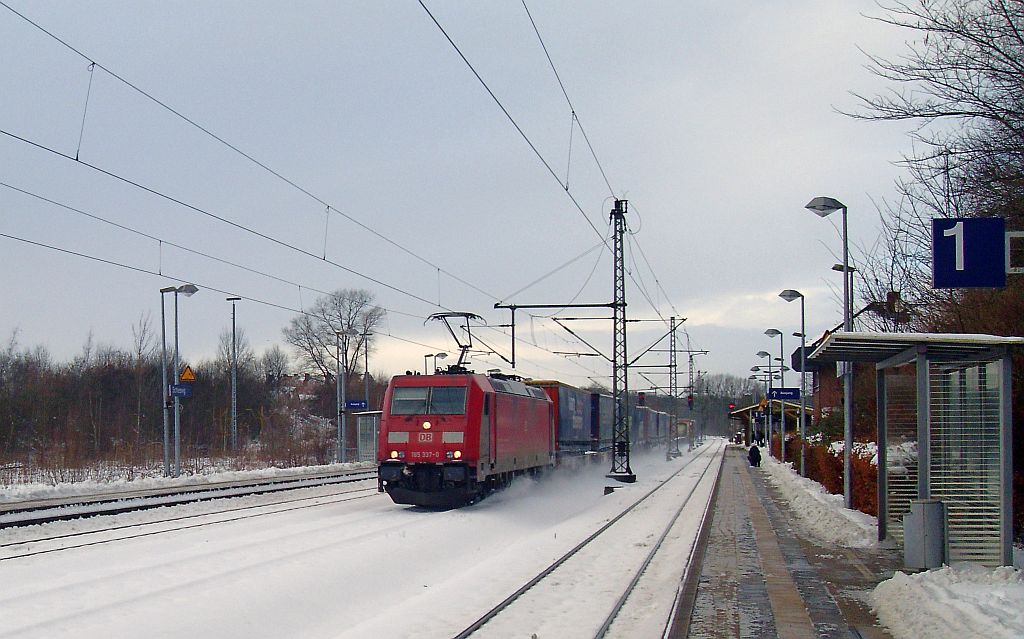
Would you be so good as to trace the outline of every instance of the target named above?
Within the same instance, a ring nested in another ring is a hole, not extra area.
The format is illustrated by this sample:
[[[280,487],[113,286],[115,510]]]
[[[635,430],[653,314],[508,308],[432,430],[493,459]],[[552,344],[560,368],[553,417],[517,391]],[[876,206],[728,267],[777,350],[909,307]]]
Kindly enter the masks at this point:
[[[522,621],[534,619],[536,617],[535,615],[543,616],[544,614],[541,612],[544,605],[544,595],[537,595],[534,597],[534,601],[529,601],[531,593],[536,593],[544,588],[552,588],[555,590],[568,588],[573,584],[573,582],[578,581],[579,576],[592,574],[594,571],[593,565],[596,565],[596,563],[591,564],[589,562],[595,562],[595,557],[615,555],[617,551],[623,550],[623,547],[632,541],[626,539],[627,535],[624,534],[616,536],[616,532],[621,532],[624,528],[627,528],[631,518],[649,517],[650,512],[644,511],[643,506],[649,505],[649,503],[653,501],[660,491],[670,486],[672,481],[679,478],[684,471],[695,468],[699,471],[696,480],[693,481],[692,486],[685,491],[685,495],[683,496],[678,508],[676,508],[671,516],[665,521],[659,537],[653,542],[633,541],[634,546],[646,546],[649,547],[649,550],[642,557],[637,556],[637,553],[633,553],[631,558],[632,563],[630,565],[630,573],[632,577],[629,579],[628,583],[621,588],[617,598],[610,604],[592,601],[586,605],[578,606],[580,608],[579,613],[581,614],[581,621],[579,624],[575,624],[574,627],[581,631],[579,636],[587,636],[584,634],[585,631],[583,629],[593,628],[595,626],[594,617],[597,614],[595,613],[595,609],[602,610],[601,613],[603,613],[604,616],[600,624],[597,625],[593,636],[595,638],[609,636],[609,631],[611,631],[616,619],[623,612],[630,596],[637,591],[638,585],[641,583],[644,573],[648,570],[659,551],[663,550],[666,540],[680,522],[682,515],[684,513],[692,514],[695,509],[698,509],[698,515],[701,521],[707,518],[708,506],[711,504],[710,497],[706,503],[698,503],[699,500],[698,502],[693,502],[693,497],[698,493],[703,495],[703,491],[701,489],[698,492],[698,488],[707,487],[703,483],[706,476],[709,472],[713,471],[713,468],[716,469],[717,472],[718,466],[716,465],[716,461],[719,461],[721,458],[714,454],[709,455],[708,453],[712,450],[713,449],[709,446],[700,451],[700,453],[688,460],[668,479],[644,494],[640,497],[640,499],[626,508],[618,515],[609,519],[590,537],[583,540],[571,550],[553,561],[537,577],[512,593],[494,608],[485,612],[478,620],[470,624],[462,632],[455,635],[456,639],[466,639],[468,637],[476,636],[507,636],[507,633],[513,629],[519,634],[525,632],[525,636],[529,636],[529,631],[522,627]],[[646,527],[650,527],[649,523]],[[702,527],[702,525],[700,527]],[[686,581],[685,576],[683,581]],[[604,595],[604,598],[608,599],[609,597]],[[558,597],[554,597],[554,599],[558,599]],[[683,601],[683,604],[685,605],[685,601]],[[606,607],[602,607],[605,605]],[[665,629],[666,632],[669,631],[669,626],[672,624],[672,615],[675,614],[677,610],[680,613],[685,613],[685,611],[680,608],[680,597],[678,596],[678,593],[676,597],[676,604],[672,609],[672,614],[670,614],[670,619],[667,621],[667,627]],[[575,613],[575,611],[573,610],[570,612],[569,610],[560,610],[559,613],[568,614]],[[562,620],[562,623],[565,623],[564,619]],[[550,633],[538,632],[537,636],[542,634]],[[628,635],[629,634],[627,633],[623,636]]]

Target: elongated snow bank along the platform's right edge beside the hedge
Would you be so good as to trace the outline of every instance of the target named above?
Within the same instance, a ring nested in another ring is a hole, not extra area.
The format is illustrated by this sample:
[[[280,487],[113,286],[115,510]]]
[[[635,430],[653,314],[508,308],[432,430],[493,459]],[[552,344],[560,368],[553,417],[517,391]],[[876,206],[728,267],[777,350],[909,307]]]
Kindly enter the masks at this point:
[[[790,463],[767,458],[762,468],[793,507],[801,527],[814,539],[847,548],[865,548],[877,543],[877,519],[844,508],[842,495],[833,495],[817,481],[801,477]]]

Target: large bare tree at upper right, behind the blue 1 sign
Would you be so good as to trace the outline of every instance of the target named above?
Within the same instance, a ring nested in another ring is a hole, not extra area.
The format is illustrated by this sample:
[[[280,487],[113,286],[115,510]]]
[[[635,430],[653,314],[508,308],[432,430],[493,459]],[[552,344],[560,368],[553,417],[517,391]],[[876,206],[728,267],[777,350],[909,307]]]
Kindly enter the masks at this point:
[[[998,215],[1024,227],[1024,2],[905,0],[883,10],[877,19],[913,39],[898,58],[869,56],[892,88],[858,96],[865,110],[851,115],[919,126],[902,160],[908,178],[880,206],[882,244],[862,272],[862,290],[876,300],[896,292],[902,307],[868,322],[967,330],[964,302],[977,295],[931,288],[931,219]]]

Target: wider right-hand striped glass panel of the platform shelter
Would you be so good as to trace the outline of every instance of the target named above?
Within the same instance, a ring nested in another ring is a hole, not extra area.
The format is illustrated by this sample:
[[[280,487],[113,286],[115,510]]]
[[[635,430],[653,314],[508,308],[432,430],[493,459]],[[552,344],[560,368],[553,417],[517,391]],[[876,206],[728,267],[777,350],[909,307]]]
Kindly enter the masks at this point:
[[[949,561],[998,565],[998,363],[931,363],[930,488],[948,513]]]

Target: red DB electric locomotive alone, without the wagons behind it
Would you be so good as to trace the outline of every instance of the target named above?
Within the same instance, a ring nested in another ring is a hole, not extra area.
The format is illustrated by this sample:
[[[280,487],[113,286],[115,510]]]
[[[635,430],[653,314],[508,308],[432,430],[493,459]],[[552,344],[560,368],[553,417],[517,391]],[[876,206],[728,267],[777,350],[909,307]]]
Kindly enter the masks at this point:
[[[380,487],[396,504],[461,506],[553,467],[555,418],[541,389],[453,367],[391,380],[378,443]]]

